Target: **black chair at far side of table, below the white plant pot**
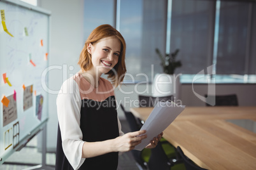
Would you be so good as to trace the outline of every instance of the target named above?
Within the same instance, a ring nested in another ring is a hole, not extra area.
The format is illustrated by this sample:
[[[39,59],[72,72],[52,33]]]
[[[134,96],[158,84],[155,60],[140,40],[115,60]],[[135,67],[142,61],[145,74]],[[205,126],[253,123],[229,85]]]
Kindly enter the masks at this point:
[[[139,95],[139,107],[155,107],[160,101],[173,101],[173,95],[162,97]]]

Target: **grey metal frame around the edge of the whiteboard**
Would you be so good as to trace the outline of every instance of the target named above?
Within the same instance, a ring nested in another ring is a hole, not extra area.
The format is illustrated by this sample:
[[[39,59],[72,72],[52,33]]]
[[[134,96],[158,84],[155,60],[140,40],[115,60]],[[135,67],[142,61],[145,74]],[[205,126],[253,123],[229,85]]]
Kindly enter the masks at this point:
[[[47,46],[47,48],[48,48],[48,51],[50,51],[50,29],[51,29],[51,21],[52,21],[51,11],[45,10],[45,9],[40,8],[38,6],[33,6],[31,4],[27,4],[27,3],[23,2],[23,1],[19,1],[19,0],[16,0],[16,1],[0,0],[0,1],[3,2],[3,3],[7,3],[7,4],[13,4],[13,5],[18,6],[18,7],[27,8],[28,10],[36,11],[38,13],[43,13],[44,15],[48,15],[48,43],[47,43],[48,46]],[[49,65],[49,60],[47,60],[46,62],[47,62],[47,66],[48,66]],[[48,81],[48,76],[46,77],[46,80]],[[48,91],[46,91],[46,93],[48,93]],[[45,96],[45,98],[46,98],[45,101],[48,102],[48,95]],[[46,112],[48,112],[48,108],[47,108]],[[2,156],[0,155],[1,156],[0,157],[0,166],[1,166],[1,164],[4,163],[4,161],[6,159],[8,159],[8,157],[10,157],[10,155],[12,155],[14,152],[16,152],[16,151],[22,149],[23,147],[25,147],[25,144],[29,140],[31,140],[36,134],[38,134],[39,131],[43,131],[46,127],[47,121],[48,121],[48,117],[44,121],[42,121],[38,126],[36,126],[36,128],[32,129],[30,131],[30,133],[27,134],[27,136],[20,139],[19,144],[17,145],[17,147],[15,147],[15,149],[10,150],[10,152],[7,152],[7,153],[3,154]],[[45,140],[46,140],[46,135],[44,135],[44,137],[45,137]],[[43,145],[46,145],[46,143],[43,143]],[[46,153],[46,148],[42,152]],[[45,159],[43,158],[43,160],[45,160]],[[45,164],[45,162],[42,162],[42,163]]]

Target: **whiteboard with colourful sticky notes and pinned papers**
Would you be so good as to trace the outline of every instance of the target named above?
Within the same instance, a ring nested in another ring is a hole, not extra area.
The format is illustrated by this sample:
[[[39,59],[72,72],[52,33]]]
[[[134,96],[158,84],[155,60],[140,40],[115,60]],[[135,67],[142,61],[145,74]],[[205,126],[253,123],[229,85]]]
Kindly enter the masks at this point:
[[[9,0],[0,10],[1,165],[48,120],[50,11]]]

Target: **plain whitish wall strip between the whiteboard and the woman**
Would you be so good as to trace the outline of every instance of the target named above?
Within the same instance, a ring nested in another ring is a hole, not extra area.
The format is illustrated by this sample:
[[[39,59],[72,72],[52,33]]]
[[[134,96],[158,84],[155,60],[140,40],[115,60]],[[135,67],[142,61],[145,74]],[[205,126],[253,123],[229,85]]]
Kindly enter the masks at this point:
[[[78,72],[83,48],[83,1],[38,0],[38,6],[52,11],[49,51],[49,121],[47,151],[55,152],[57,143],[57,92],[69,74]]]

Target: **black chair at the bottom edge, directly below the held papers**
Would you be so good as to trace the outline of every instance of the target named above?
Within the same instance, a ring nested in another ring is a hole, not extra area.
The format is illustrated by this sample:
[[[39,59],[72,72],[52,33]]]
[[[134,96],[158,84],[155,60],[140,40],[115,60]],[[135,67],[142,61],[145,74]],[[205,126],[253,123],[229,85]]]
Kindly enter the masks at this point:
[[[185,170],[185,165],[181,159],[176,160],[169,159],[162,148],[163,143],[159,141],[155,148],[151,149],[150,160],[148,161],[148,167],[150,170]]]

